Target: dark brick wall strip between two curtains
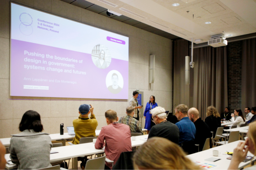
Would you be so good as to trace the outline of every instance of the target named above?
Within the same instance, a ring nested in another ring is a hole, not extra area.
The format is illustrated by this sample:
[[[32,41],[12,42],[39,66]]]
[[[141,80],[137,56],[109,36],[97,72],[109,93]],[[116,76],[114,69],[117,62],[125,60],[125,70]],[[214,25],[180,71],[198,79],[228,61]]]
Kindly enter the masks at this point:
[[[228,43],[227,65],[228,106],[233,113],[234,109],[242,107],[242,41]]]

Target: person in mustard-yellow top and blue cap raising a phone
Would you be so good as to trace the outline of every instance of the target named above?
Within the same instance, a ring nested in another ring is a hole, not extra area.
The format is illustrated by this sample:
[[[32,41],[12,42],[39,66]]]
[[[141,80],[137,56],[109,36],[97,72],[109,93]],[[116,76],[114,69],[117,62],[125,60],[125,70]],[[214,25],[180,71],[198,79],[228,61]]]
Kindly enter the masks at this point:
[[[95,137],[95,130],[98,122],[93,113],[93,106],[83,104],[79,107],[79,117],[73,120],[73,126],[76,133],[72,143],[79,144],[81,137]],[[90,118],[88,117],[91,114]]]

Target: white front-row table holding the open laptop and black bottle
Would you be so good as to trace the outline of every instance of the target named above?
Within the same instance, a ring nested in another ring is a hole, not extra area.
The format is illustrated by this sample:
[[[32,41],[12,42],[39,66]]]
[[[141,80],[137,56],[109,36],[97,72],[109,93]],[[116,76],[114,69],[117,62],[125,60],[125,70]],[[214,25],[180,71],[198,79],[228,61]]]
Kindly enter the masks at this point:
[[[142,129],[142,131],[146,131],[146,130],[147,129]],[[100,130],[95,130],[95,133],[96,133],[96,136],[99,136]],[[74,138],[74,137],[70,136],[68,133],[64,133],[63,135],[60,135],[59,133],[50,134],[50,137],[51,137],[52,141],[63,140],[62,141],[63,146],[66,145],[66,140],[73,140],[73,138]],[[0,139],[0,141],[2,142],[2,144],[4,146],[9,146],[10,140],[11,140],[11,137]]]

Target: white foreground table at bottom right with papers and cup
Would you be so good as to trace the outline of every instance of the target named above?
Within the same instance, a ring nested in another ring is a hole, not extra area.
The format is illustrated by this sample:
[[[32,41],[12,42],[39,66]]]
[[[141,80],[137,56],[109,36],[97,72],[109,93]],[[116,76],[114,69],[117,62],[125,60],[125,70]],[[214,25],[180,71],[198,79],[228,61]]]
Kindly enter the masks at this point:
[[[201,152],[197,152],[195,154],[191,154],[188,155],[187,157],[190,158],[191,161],[193,162],[201,162],[201,163],[210,163],[213,165],[217,165],[216,167],[213,167],[211,169],[216,169],[216,170],[227,170],[228,166],[230,164],[231,160],[228,160],[227,158],[230,157],[230,155],[225,154],[225,152],[233,152],[233,150],[237,147],[237,144],[239,142],[241,142],[242,140],[236,141],[236,142],[232,142],[232,143],[228,143],[228,144],[223,144],[220,145],[218,147],[214,147],[205,151],[201,151]],[[220,155],[219,156],[213,156],[213,150],[217,150],[220,151]],[[223,155],[225,154],[225,155]],[[248,152],[248,154],[250,154],[251,156],[253,156],[253,154],[251,154],[250,152]],[[216,162],[211,162],[211,161],[205,161],[205,159],[208,158],[219,158],[219,161]],[[256,159],[254,158],[253,161],[256,161]],[[251,161],[248,162],[242,162],[239,164],[238,169],[242,169],[245,166],[249,165],[251,163]]]

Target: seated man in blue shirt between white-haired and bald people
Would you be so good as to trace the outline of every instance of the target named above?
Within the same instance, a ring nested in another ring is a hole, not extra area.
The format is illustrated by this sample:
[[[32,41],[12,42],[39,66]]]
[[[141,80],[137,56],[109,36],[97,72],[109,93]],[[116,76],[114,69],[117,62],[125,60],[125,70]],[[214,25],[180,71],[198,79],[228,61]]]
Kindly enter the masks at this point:
[[[186,105],[180,104],[175,107],[175,116],[179,120],[175,125],[177,125],[180,130],[180,146],[184,142],[194,141],[196,135],[196,127],[187,116],[187,111],[188,107]]]

